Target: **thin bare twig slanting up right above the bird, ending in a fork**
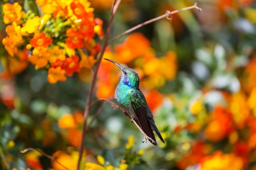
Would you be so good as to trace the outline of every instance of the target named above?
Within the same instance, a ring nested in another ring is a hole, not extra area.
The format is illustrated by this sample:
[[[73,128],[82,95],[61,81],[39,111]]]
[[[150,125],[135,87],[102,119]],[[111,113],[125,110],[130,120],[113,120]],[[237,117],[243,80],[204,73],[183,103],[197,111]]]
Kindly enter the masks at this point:
[[[144,25],[149,24],[149,23],[151,23],[151,22],[155,22],[155,21],[160,20],[160,19],[165,18],[165,17],[170,20],[170,19],[171,19],[171,15],[173,15],[174,13],[178,13],[178,12],[180,12],[180,11],[186,11],[186,10],[189,10],[189,9],[197,9],[198,11],[202,11],[202,9],[197,6],[197,3],[196,3],[196,2],[195,2],[195,4],[194,4],[193,6],[191,6],[191,7],[185,7],[185,8],[178,9],[178,10],[171,11],[171,12],[170,12],[170,11],[166,11],[166,13],[165,13],[164,15],[158,16],[158,17],[156,17],[156,18],[153,18],[153,19],[151,19],[151,20],[148,20],[148,21],[146,21],[146,22],[143,22],[143,23],[141,23],[141,24],[139,24],[139,25],[137,25],[137,26],[134,26],[134,27],[132,27],[131,29],[128,29],[127,31],[124,31],[124,33],[121,33],[120,35],[117,35],[115,38],[112,38],[112,39],[108,42],[108,44],[110,44],[111,42],[117,40],[117,39],[120,38],[121,36],[126,35],[126,34],[132,32],[132,31],[134,31],[134,30],[140,28],[141,26],[144,26]]]

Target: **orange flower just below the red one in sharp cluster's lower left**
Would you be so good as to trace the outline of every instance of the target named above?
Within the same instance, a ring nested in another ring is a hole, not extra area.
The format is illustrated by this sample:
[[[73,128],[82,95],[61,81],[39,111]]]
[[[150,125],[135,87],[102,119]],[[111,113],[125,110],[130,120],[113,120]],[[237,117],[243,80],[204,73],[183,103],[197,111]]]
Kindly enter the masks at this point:
[[[42,68],[47,65],[50,55],[48,53],[37,53],[29,57],[29,61],[36,67]]]

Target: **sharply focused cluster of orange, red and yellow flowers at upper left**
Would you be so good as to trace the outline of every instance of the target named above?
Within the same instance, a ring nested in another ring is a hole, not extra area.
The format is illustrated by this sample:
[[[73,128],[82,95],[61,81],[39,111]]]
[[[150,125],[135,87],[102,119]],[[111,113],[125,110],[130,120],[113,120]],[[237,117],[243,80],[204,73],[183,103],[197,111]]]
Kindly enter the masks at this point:
[[[18,2],[3,5],[4,23],[9,25],[2,43],[9,55],[17,57],[18,49],[30,50],[26,62],[36,69],[47,69],[49,83],[66,81],[66,76],[92,67],[101,49],[93,38],[97,34],[102,39],[104,33],[103,22],[94,18],[90,2],[36,0],[36,4],[42,8],[43,16],[25,13]]]

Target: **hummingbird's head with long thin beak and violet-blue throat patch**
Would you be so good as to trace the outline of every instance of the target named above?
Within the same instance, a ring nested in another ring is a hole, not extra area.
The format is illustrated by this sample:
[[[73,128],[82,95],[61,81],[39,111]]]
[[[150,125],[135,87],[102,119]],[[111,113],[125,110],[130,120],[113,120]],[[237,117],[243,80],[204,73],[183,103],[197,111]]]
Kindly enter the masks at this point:
[[[104,59],[116,64],[121,69],[121,78],[119,83],[127,85],[131,88],[139,88],[139,75],[134,69],[125,68],[112,60],[106,58]]]

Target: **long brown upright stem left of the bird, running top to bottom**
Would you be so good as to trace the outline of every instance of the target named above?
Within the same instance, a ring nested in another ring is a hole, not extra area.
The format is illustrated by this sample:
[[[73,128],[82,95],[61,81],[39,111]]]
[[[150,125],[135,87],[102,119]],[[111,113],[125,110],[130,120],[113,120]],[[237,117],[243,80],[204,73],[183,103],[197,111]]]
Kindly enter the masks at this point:
[[[88,99],[87,99],[87,102],[86,102],[86,105],[85,105],[85,111],[84,111],[84,114],[83,114],[82,139],[81,139],[81,144],[80,144],[80,147],[79,147],[79,159],[78,159],[76,170],[79,170],[79,166],[80,166],[82,156],[83,156],[83,143],[84,143],[84,140],[85,140],[85,134],[86,134],[86,129],[87,129],[86,128],[87,117],[89,115],[89,110],[90,110],[90,106],[91,106],[91,103],[92,103],[92,94],[93,94],[94,86],[95,86],[96,79],[97,79],[97,73],[98,73],[98,70],[99,70],[99,65],[101,63],[103,53],[105,52],[105,50],[108,46],[108,37],[109,37],[110,29],[111,29],[112,22],[113,22],[113,19],[114,19],[114,16],[115,16],[115,12],[117,11],[117,8],[118,8],[120,2],[121,2],[121,0],[117,0],[117,1],[113,0],[106,37],[105,37],[101,52],[99,54],[99,59],[98,59],[98,61],[96,63],[96,66],[95,66],[94,75],[92,77],[92,84],[90,86]]]

